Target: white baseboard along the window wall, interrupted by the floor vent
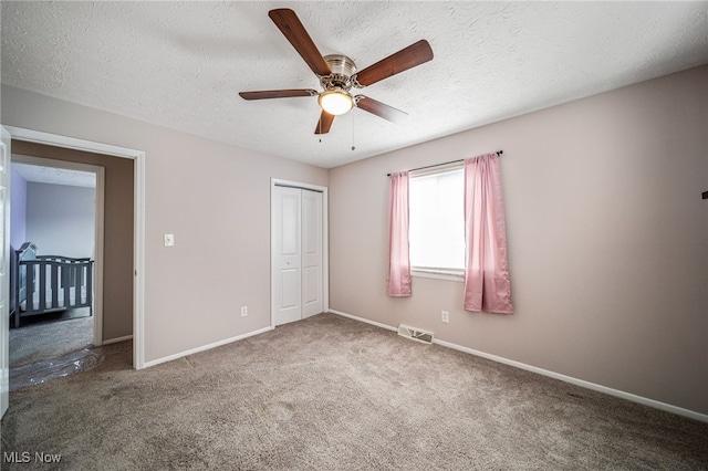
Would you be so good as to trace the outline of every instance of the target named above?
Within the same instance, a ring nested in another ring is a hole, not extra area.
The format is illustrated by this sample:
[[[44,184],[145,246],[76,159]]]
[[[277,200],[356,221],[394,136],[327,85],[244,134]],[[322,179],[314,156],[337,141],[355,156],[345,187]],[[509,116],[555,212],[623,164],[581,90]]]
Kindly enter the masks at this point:
[[[343,313],[341,311],[336,311],[336,310],[330,310],[330,312],[332,314],[336,314],[336,315],[341,315],[343,317],[348,317],[351,320],[354,321],[358,321],[358,322],[363,322],[366,324],[372,324],[375,325],[377,327],[382,327],[385,328],[387,331],[397,331],[396,327],[393,327],[391,325],[386,325],[386,324],[382,324],[379,322],[375,322],[375,321],[369,321],[367,318],[364,317],[360,317],[360,316],[355,316],[352,314],[346,314]],[[701,422],[708,422],[708,415],[706,414],[700,414],[700,412],[696,412],[694,410],[689,410],[689,409],[684,409],[681,407],[677,407],[677,406],[673,406],[670,404],[666,404],[666,402],[660,402],[658,400],[654,400],[654,399],[649,399],[646,397],[642,397],[642,396],[637,396],[631,393],[625,393],[622,391],[620,389],[613,389],[613,388],[608,388],[606,386],[602,386],[602,385],[597,385],[595,383],[590,383],[590,381],[585,381],[583,379],[579,379],[579,378],[574,378],[572,376],[566,376],[566,375],[561,375],[560,373],[554,373],[554,371],[550,371],[548,369],[543,369],[543,368],[538,368],[535,366],[531,366],[531,365],[527,365],[525,363],[521,363],[521,362],[517,362],[513,359],[509,359],[509,358],[504,358],[501,356],[497,356],[497,355],[491,355],[485,352],[480,352],[480,350],[476,350],[472,348],[468,348],[468,347],[464,347],[461,345],[457,345],[457,344],[452,344],[450,342],[445,342],[445,341],[440,341],[438,338],[434,338],[433,339],[434,344],[438,344],[440,346],[447,347],[447,348],[452,348],[459,352],[464,352],[470,355],[476,355],[482,358],[487,358],[487,359],[491,359],[492,362],[498,362],[498,363],[502,363],[504,365],[509,365],[509,366],[513,366],[520,369],[525,369],[527,371],[532,371],[532,373],[537,373],[539,375],[543,375],[543,376],[548,376],[554,379],[559,379],[561,381],[565,381],[565,383],[570,383],[576,386],[581,386],[583,388],[587,388],[587,389],[592,389],[598,393],[604,393],[607,394],[610,396],[615,396],[615,397],[620,397],[622,399],[626,399],[626,400],[631,400],[633,402],[637,402],[637,404],[642,404],[644,406],[649,406],[649,407],[654,407],[656,409],[662,409],[662,410],[666,410],[667,412],[671,412],[671,414],[676,414],[678,416],[684,416],[684,417],[688,417],[695,420],[700,420]]]

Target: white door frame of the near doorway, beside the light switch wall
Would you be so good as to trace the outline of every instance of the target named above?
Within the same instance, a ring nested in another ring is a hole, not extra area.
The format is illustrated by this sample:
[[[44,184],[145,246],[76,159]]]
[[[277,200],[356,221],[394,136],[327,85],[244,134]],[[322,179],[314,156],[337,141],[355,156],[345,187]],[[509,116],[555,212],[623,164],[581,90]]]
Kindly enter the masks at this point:
[[[145,153],[127,147],[77,139],[22,127],[4,127],[15,140],[105,154],[135,160],[133,175],[133,266],[135,272],[133,280],[133,367],[135,369],[143,369],[145,367]]]

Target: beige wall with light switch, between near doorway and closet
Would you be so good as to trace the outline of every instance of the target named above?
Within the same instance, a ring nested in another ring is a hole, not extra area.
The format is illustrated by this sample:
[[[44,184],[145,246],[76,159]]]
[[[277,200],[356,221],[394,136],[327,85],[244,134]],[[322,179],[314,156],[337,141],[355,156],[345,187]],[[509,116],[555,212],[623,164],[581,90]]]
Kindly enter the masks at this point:
[[[146,153],[146,362],[270,326],[270,179],[325,169],[4,85],[1,122]]]

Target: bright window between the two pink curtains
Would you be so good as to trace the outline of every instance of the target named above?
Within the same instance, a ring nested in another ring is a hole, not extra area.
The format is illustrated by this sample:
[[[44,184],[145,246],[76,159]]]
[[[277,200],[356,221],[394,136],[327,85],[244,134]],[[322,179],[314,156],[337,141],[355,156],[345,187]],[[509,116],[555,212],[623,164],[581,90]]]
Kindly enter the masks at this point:
[[[464,275],[464,211],[462,167],[410,176],[408,238],[413,274]]]

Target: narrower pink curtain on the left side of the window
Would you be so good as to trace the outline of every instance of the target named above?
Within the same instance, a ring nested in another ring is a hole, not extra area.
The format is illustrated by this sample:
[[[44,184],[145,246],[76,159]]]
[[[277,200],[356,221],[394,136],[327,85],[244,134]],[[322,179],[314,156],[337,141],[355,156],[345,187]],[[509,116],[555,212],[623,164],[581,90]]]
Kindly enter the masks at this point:
[[[408,172],[391,174],[388,199],[388,287],[389,296],[410,296],[408,245]]]

